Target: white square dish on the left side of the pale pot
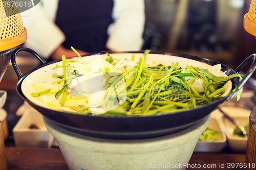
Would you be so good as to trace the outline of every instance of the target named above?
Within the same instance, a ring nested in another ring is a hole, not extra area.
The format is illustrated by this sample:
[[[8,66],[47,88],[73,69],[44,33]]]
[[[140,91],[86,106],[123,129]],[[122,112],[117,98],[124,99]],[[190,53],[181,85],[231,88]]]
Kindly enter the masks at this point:
[[[35,125],[38,129],[29,128]],[[27,109],[12,130],[16,147],[51,148],[54,137],[47,131],[42,115]]]

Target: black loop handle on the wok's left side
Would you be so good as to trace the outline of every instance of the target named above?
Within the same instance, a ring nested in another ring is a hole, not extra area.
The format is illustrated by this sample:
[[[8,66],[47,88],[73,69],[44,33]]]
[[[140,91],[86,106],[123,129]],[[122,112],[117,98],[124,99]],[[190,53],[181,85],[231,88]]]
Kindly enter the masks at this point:
[[[42,62],[42,64],[46,63],[46,60],[41,58],[35,51],[31,50],[30,48],[27,47],[18,47],[16,48],[11,55],[11,62],[12,62],[12,66],[16,72],[16,75],[18,76],[18,79],[20,79],[22,77],[22,72],[20,71],[20,69],[18,68],[18,64],[16,62],[16,55],[18,52],[21,51],[25,51],[25,52],[29,52],[30,54],[34,55],[39,61]]]

